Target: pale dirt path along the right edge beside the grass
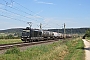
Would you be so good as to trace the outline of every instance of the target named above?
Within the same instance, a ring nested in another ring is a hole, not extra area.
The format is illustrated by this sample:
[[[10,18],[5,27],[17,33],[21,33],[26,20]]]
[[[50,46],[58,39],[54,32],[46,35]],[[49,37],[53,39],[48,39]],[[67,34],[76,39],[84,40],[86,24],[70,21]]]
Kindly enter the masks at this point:
[[[86,41],[85,39],[82,39],[84,42],[84,50],[85,50],[85,60],[90,60],[90,42]]]

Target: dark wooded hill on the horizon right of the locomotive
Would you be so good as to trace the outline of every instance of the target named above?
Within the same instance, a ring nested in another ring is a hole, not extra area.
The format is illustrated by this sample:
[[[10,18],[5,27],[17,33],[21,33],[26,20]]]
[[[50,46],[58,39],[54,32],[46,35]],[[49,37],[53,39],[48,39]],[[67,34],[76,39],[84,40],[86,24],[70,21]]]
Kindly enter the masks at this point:
[[[90,28],[69,28],[65,29],[66,34],[84,34],[86,30]],[[64,33],[64,29],[48,29],[48,31],[54,31],[59,33]]]

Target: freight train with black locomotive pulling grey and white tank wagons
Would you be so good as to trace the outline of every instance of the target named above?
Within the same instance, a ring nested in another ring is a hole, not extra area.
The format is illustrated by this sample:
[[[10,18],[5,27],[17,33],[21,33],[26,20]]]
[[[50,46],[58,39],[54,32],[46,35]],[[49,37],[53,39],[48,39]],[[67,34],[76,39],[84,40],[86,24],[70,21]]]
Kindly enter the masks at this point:
[[[71,38],[70,34],[62,34],[57,32],[39,30],[39,29],[30,29],[29,27],[22,30],[21,40],[24,42],[33,42],[40,40],[50,40],[50,39],[63,39]]]

